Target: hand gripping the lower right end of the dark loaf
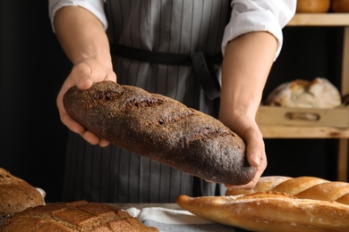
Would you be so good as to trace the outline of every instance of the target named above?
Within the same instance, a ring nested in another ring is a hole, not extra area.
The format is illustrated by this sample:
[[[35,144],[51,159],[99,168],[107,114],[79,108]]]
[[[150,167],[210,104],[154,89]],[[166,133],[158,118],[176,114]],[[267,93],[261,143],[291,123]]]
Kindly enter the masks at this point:
[[[229,115],[229,117],[227,117],[227,115]],[[246,144],[247,160],[251,166],[257,169],[256,175],[250,183],[243,186],[226,185],[226,187],[251,189],[256,186],[263,171],[267,168],[267,155],[260,128],[254,120],[254,117],[249,115],[232,115],[229,113],[223,114],[219,120],[243,138]]]

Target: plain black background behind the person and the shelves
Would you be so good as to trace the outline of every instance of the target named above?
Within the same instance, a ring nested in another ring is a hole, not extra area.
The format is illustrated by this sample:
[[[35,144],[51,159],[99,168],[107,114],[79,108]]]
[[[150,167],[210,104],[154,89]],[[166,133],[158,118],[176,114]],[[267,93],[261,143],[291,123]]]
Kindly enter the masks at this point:
[[[293,79],[326,77],[340,88],[343,30],[285,28],[264,96]],[[47,1],[0,1],[0,167],[59,202],[67,129],[55,97],[71,63],[55,38]],[[336,179],[336,139],[266,139],[265,175]]]

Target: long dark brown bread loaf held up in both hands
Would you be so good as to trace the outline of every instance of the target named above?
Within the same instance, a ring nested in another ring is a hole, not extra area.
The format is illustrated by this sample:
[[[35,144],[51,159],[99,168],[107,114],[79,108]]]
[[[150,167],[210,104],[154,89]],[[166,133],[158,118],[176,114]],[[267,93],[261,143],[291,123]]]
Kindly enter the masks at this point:
[[[241,137],[164,95],[104,81],[87,90],[70,88],[64,107],[98,137],[193,176],[230,185],[254,177]]]

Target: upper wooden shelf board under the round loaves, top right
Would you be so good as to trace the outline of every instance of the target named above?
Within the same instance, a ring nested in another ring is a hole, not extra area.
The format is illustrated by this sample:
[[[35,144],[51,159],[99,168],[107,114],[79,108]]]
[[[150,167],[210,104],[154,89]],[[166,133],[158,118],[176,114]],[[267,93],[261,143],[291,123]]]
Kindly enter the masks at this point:
[[[349,26],[349,13],[296,13],[287,26],[346,27]]]

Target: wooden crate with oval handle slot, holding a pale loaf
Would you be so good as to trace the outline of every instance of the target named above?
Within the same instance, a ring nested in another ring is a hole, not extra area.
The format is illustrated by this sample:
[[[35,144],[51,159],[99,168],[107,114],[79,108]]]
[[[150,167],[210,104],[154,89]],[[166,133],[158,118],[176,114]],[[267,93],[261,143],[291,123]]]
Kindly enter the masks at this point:
[[[303,109],[261,105],[256,121],[262,126],[349,128],[349,107]]]

